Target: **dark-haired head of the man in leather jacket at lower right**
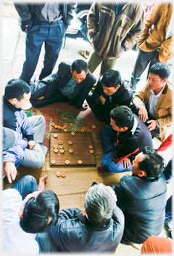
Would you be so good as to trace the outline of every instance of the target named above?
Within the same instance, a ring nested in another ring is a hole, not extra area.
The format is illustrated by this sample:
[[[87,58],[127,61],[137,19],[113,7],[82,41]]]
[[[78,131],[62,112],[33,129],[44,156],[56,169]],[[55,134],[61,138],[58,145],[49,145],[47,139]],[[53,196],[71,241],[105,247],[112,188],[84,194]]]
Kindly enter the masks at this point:
[[[162,156],[149,146],[146,146],[141,153],[138,153],[133,160],[133,175],[139,177],[158,177],[165,166]]]

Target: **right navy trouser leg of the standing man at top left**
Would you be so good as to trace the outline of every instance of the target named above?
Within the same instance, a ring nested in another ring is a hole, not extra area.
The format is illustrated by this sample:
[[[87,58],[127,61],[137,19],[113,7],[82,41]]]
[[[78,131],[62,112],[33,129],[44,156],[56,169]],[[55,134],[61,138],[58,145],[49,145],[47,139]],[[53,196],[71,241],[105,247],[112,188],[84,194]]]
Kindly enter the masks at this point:
[[[41,70],[39,80],[49,76],[53,71],[59,57],[60,49],[62,48],[66,30],[67,28],[63,22],[50,25],[48,38],[45,41],[43,68]]]

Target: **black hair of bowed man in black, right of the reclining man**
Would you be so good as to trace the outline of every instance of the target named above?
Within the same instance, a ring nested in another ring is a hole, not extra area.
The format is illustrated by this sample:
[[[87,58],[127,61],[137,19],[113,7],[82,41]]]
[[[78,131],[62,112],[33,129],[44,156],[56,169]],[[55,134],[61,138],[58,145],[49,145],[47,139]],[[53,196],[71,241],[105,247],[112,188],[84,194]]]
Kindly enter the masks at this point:
[[[104,73],[104,76],[101,79],[101,84],[104,84],[105,87],[117,87],[121,84],[121,76],[118,71],[110,69]]]

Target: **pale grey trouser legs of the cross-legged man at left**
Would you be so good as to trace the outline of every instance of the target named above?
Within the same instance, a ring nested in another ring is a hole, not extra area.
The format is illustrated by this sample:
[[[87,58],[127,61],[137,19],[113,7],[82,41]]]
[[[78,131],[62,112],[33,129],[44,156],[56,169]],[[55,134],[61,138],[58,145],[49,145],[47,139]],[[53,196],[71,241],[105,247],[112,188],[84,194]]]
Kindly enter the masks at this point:
[[[30,167],[32,169],[41,168],[45,162],[45,156],[48,151],[48,148],[46,148],[46,146],[39,144],[42,143],[44,139],[46,121],[43,116],[31,116],[28,119],[35,132],[34,140],[36,142],[36,145],[32,148],[32,150],[25,148],[25,155],[21,162],[21,165],[24,167]]]

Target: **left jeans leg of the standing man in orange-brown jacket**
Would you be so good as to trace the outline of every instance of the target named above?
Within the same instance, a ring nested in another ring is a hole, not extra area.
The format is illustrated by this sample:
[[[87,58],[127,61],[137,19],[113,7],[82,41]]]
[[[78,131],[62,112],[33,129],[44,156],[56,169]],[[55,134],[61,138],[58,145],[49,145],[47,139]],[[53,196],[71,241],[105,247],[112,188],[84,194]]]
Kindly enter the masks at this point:
[[[147,65],[154,57],[155,52],[156,51],[144,52],[139,49],[136,64],[134,65],[130,79],[130,88],[133,90],[133,93],[136,93],[136,84],[140,81],[142,73],[144,73]]]

